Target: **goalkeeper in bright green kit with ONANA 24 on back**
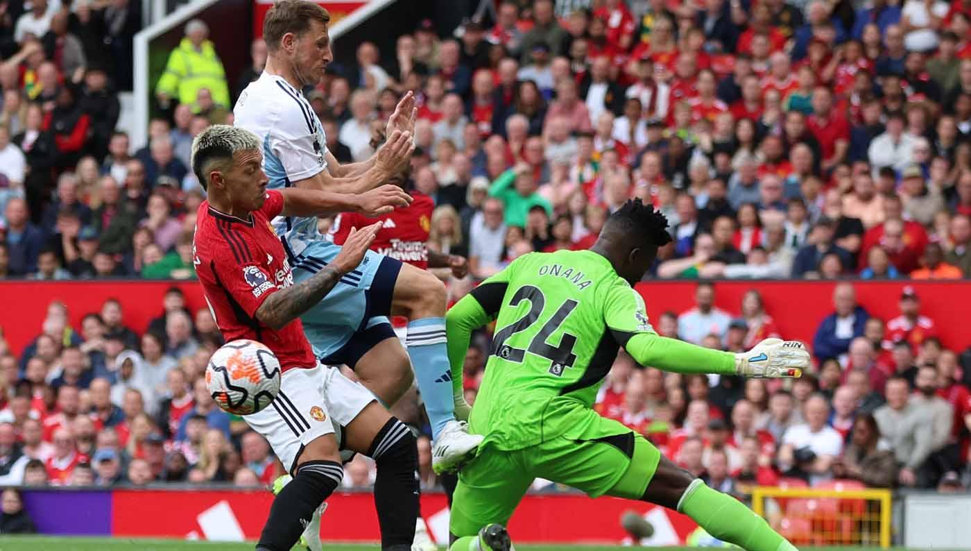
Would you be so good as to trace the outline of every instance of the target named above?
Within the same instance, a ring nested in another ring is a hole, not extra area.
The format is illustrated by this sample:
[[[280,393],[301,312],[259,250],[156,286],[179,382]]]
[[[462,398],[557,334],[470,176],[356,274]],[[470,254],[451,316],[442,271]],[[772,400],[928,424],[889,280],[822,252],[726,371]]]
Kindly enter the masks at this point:
[[[472,331],[496,320],[469,431],[485,440],[459,473],[452,551],[506,551],[504,526],[535,477],[591,498],[641,499],[691,517],[749,551],[794,550],[737,499],[708,488],[651,442],[592,405],[619,347],[637,362],[680,373],[798,377],[802,343],[766,339],[745,354],[658,336],[632,289],[671,241],[667,220],[640,199],[611,215],[588,251],[518,258],[458,301],[446,326],[453,381]]]

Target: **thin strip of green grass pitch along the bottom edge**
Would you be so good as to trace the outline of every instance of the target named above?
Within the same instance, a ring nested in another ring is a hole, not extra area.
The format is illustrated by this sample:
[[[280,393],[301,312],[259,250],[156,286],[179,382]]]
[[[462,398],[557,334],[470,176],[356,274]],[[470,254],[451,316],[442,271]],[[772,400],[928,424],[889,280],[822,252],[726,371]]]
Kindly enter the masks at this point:
[[[0,535],[0,551],[252,551],[252,543],[217,543],[174,539],[131,537],[50,537],[41,535]],[[298,548],[294,547],[294,551]],[[378,545],[324,543],[326,551],[377,551]],[[443,548],[444,549],[444,548]],[[678,551],[687,547],[621,547],[620,545],[517,545],[522,551],[608,551],[649,549]],[[878,551],[871,547],[811,547],[812,551]],[[303,551],[300,549],[300,551]],[[907,551],[894,547],[889,551]]]

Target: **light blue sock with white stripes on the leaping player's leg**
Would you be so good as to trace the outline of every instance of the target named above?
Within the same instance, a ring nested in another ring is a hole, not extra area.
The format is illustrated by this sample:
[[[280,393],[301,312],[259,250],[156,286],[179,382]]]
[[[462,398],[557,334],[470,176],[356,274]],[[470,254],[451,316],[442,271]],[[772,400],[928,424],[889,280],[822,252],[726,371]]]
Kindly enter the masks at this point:
[[[428,412],[432,438],[455,418],[452,396],[452,367],[445,339],[445,318],[422,318],[408,324],[405,341],[415,366],[419,391]]]

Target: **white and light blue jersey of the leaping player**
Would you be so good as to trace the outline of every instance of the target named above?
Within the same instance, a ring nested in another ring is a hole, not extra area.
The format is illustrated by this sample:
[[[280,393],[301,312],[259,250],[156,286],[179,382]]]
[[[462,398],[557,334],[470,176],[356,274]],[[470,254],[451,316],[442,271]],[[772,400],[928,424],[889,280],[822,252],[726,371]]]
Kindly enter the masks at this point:
[[[250,130],[263,143],[263,171],[269,189],[287,188],[294,182],[327,169],[327,139],[317,114],[303,93],[283,77],[263,72],[250,83],[233,107],[234,124]],[[277,217],[273,226],[284,237],[287,254],[299,256],[308,245],[325,241],[317,218]]]

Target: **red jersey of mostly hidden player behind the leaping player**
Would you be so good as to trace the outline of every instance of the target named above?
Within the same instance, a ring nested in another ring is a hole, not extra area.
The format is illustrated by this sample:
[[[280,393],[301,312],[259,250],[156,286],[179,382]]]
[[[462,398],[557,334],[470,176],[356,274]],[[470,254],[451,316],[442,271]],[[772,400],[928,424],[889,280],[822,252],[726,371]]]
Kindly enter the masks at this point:
[[[411,191],[414,198],[406,208],[394,209],[389,214],[369,218],[356,213],[341,213],[330,226],[334,243],[343,245],[353,227],[365,227],[383,222],[371,250],[385,257],[407,262],[415,267],[428,267],[428,230],[431,229],[431,211],[435,202],[423,193]]]

